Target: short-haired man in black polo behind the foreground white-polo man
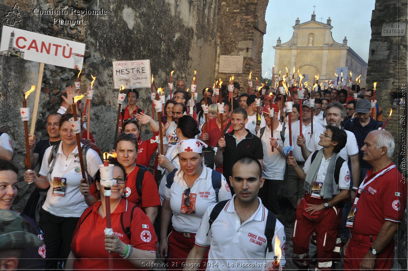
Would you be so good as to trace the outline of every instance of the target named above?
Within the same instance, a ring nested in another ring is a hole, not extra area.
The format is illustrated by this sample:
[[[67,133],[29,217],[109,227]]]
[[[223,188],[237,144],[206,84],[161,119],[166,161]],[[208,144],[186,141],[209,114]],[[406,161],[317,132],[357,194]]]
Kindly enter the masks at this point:
[[[262,149],[262,141],[254,136],[248,129],[245,129],[245,124],[248,122],[248,115],[241,107],[234,109],[231,114],[231,126],[234,131],[226,133],[225,139],[218,140],[217,154],[214,162],[219,167],[223,162],[224,177],[228,184],[229,176],[231,176],[232,166],[235,160],[248,155],[257,159],[261,164],[264,159],[264,151]],[[224,152],[222,151],[224,149]],[[231,187],[231,193],[234,194],[234,189]]]

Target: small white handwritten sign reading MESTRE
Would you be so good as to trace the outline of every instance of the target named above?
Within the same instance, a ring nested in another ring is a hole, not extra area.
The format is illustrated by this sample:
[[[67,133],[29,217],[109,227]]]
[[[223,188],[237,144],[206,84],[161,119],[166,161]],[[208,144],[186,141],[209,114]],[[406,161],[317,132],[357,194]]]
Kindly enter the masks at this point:
[[[149,88],[151,86],[150,60],[112,61],[115,89],[122,84],[125,89]]]

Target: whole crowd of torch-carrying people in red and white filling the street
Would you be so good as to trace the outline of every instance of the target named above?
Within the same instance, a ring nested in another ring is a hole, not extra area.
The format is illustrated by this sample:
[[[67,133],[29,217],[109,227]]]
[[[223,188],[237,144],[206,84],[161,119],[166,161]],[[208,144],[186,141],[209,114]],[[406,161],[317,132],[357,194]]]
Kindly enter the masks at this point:
[[[161,123],[129,90],[110,151],[108,206],[100,149],[81,118],[78,150],[69,122],[83,105],[71,112],[76,93],[63,91],[60,109],[47,116],[49,138],[29,140],[38,171],[24,172],[35,186],[24,211],[0,215],[1,269],[102,270],[113,253],[114,270],[150,270],[158,251],[166,269],[265,269],[290,257],[298,269],[329,270],[341,247],[344,270],[390,269],[407,184],[392,162],[394,138],[379,129],[373,90],[319,89],[299,99],[294,88],[290,114],[286,96],[268,87],[258,93],[260,106],[257,95],[239,94],[238,82],[231,94],[223,87],[224,112],[213,89],[205,90],[207,99],[189,104],[186,82],[177,81]],[[142,140],[142,125],[151,138]],[[7,133],[0,133],[0,159],[0,209],[12,210],[18,169]],[[104,232],[109,205],[112,235]],[[20,239],[5,227],[14,220],[14,229],[24,228]],[[293,224],[292,255],[282,222]]]

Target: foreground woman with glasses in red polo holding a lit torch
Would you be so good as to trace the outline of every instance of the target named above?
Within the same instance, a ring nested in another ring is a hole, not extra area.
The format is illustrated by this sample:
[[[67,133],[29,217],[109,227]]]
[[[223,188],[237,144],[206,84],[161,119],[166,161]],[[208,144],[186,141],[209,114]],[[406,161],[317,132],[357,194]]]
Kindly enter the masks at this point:
[[[113,252],[113,270],[153,269],[157,238],[153,224],[143,211],[124,194],[129,180],[126,170],[114,163],[110,209],[113,235],[105,235],[105,187],[101,175],[95,176],[98,198],[101,200],[86,209],[73,234],[71,253],[65,269],[104,270],[108,267],[108,251]],[[106,186],[106,185],[105,185]]]

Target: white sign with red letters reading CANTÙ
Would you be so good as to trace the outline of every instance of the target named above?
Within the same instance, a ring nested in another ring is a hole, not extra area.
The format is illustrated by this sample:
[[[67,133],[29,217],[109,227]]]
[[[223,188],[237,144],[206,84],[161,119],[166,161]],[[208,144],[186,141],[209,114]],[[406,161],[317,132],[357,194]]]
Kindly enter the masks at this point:
[[[82,69],[85,44],[3,25],[0,54]]]

